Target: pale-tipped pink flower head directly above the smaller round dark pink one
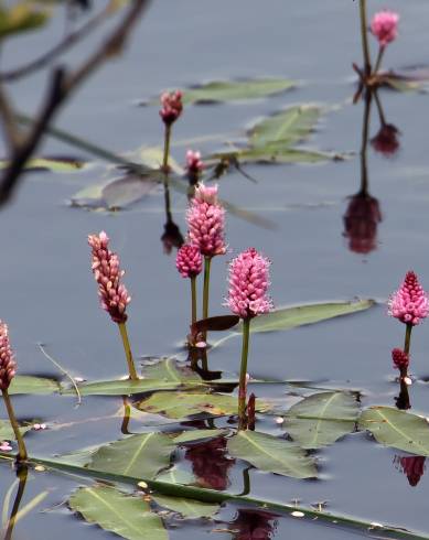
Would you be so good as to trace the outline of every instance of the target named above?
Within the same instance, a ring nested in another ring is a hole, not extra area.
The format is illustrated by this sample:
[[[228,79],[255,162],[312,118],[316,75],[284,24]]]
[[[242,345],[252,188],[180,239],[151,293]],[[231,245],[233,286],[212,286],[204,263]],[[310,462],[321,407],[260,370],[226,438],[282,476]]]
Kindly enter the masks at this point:
[[[217,201],[217,185],[200,184],[186,213],[189,239],[205,257],[224,255],[225,208]]]

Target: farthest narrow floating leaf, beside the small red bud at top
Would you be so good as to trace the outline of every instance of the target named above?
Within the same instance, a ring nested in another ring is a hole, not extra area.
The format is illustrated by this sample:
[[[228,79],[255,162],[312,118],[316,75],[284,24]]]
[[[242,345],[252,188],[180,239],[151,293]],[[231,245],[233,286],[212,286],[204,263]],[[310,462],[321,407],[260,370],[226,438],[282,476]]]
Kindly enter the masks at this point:
[[[183,91],[183,102],[215,104],[222,101],[243,101],[260,99],[289,90],[297,85],[293,80],[283,78],[260,78],[246,80],[214,80],[205,85],[186,88]],[[153,104],[158,104],[158,99]]]

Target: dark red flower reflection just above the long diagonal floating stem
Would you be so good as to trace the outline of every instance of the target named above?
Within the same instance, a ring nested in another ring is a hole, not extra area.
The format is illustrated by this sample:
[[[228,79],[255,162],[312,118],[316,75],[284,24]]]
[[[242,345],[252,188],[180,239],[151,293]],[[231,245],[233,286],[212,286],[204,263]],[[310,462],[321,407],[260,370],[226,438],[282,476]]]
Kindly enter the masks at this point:
[[[228,471],[235,460],[226,456],[225,439],[213,439],[187,447],[185,460],[192,463],[193,473],[203,487],[218,490],[228,487]]]

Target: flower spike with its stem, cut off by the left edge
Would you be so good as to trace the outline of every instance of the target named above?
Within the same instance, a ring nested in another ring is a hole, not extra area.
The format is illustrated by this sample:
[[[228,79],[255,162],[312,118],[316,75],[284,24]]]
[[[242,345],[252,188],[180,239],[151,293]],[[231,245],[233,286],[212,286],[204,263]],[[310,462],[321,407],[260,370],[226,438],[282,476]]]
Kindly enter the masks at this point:
[[[14,361],[13,350],[9,342],[8,325],[0,321],[0,389],[3,396],[3,401],[8,411],[9,420],[13,429],[18,442],[19,462],[25,461],[28,457],[24,440],[20,432],[18,420],[12,407],[12,401],[9,396],[9,387],[17,372],[17,363]]]

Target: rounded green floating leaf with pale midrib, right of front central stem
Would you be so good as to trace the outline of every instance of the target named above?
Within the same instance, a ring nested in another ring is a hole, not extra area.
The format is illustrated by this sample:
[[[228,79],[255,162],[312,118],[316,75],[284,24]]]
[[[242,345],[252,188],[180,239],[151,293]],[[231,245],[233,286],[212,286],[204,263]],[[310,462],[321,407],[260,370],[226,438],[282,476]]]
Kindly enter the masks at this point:
[[[286,431],[302,449],[320,449],[353,431],[358,404],[346,392],[321,392],[304,398],[285,417]]]

